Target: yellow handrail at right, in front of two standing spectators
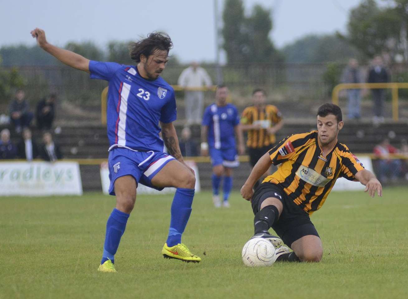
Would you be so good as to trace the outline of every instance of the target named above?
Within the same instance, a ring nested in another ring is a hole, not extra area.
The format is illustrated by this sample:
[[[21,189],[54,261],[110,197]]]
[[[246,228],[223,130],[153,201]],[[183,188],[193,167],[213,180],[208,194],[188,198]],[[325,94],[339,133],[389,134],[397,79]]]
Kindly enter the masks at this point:
[[[333,104],[339,105],[339,92],[343,89],[392,89],[392,119],[398,121],[398,89],[408,88],[408,83],[342,83],[336,85],[332,92]]]

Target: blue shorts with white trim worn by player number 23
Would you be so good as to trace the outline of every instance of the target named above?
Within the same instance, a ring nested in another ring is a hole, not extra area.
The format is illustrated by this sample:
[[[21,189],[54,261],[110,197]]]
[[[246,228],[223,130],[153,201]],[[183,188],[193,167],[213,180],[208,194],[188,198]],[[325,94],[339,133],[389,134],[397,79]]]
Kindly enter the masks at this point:
[[[151,179],[174,157],[163,152],[136,152],[125,147],[114,147],[109,152],[109,194],[115,195],[115,180],[121,176],[133,176],[137,184],[142,184],[157,190]]]

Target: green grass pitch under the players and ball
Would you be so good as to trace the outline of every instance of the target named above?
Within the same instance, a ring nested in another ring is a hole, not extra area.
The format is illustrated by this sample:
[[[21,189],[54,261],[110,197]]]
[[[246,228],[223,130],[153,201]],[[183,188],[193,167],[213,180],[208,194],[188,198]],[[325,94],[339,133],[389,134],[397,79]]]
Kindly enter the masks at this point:
[[[98,273],[114,197],[0,198],[0,299],[9,298],[407,298],[408,188],[331,193],[312,221],[320,263],[246,268],[248,202],[230,209],[197,194],[183,242],[200,264],[164,259],[172,196],[139,196],[116,274]],[[204,255],[205,252],[205,255]]]

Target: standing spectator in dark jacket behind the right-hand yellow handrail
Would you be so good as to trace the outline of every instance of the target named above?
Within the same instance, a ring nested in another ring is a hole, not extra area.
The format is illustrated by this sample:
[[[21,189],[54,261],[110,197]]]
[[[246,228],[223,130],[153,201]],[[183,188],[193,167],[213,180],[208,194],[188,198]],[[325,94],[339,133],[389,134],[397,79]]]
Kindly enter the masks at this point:
[[[373,66],[370,68],[368,72],[368,83],[386,83],[388,82],[388,72],[383,64],[383,59],[381,56],[377,55],[373,59]],[[385,98],[385,91],[382,88],[373,88],[371,90],[371,94],[373,95],[374,101],[374,123],[384,122],[384,98]]]

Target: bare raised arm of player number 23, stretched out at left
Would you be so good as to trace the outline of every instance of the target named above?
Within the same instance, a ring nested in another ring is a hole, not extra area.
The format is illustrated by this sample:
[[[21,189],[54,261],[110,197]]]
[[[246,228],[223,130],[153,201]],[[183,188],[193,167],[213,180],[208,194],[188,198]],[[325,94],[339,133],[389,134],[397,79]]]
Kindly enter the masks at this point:
[[[35,28],[30,33],[33,38],[37,39],[38,46],[53,55],[60,62],[67,66],[71,66],[72,68],[76,68],[77,70],[83,70],[84,72],[89,73],[89,59],[77,53],[73,53],[72,51],[49,44],[45,38],[45,32],[42,29]]]

